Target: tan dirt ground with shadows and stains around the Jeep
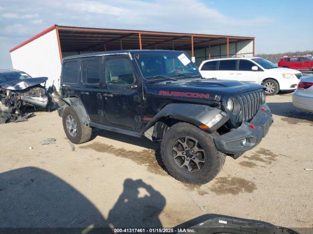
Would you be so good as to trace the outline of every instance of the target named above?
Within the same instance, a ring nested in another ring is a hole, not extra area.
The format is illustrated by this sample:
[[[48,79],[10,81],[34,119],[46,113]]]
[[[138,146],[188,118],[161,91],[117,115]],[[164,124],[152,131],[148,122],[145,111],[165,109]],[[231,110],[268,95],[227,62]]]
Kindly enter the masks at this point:
[[[291,94],[267,102],[268,136],[202,186],[167,175],[148,139],[97,131],[72,151],[57,112],[2,124],[0,227],[174,227],[215,216],[313,227],[313,114]]]

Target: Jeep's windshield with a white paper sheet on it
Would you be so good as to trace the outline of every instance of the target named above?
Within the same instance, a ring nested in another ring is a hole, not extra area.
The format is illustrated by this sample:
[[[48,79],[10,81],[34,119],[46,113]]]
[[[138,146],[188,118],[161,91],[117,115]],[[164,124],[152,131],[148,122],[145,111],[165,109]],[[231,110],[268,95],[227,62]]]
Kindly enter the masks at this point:
[[[135,54],[134,58],[144,78],[184,74],[185,78],[201,76],[195,64],[181,52]]]

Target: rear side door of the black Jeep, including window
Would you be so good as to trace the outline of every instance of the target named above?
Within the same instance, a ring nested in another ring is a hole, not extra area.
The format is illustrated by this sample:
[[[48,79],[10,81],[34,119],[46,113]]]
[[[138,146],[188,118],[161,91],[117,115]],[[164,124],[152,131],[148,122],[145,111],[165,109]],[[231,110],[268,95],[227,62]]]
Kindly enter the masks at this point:
[[[90,121],[108,124],[103,111],[102,57],[82,59],[80,98],[90,117]]]

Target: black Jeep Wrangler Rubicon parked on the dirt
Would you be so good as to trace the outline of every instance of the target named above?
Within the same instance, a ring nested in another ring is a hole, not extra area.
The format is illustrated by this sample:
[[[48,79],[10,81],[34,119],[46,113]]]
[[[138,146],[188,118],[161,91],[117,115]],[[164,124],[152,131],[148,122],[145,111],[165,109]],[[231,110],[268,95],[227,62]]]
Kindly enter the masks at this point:
[[[59,115],[68,139],[92,128],[161,141],[176,179],[212,180],[225,156],[260,143],[272,117],[258,84],[202,78],[182,51],[127,50],[63,59]]]

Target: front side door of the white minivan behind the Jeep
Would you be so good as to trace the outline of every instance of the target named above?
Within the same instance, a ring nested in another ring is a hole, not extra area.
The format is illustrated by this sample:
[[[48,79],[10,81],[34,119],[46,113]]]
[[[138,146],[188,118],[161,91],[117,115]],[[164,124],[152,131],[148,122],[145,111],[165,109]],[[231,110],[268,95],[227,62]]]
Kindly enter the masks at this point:
[[[247,59],[238,59],[238,60],[239,60],[238,71],[236,72],[237,80],[258,83],[260,68],[258,71],[253,71],[252,67],[257,66],[255,63]]]

